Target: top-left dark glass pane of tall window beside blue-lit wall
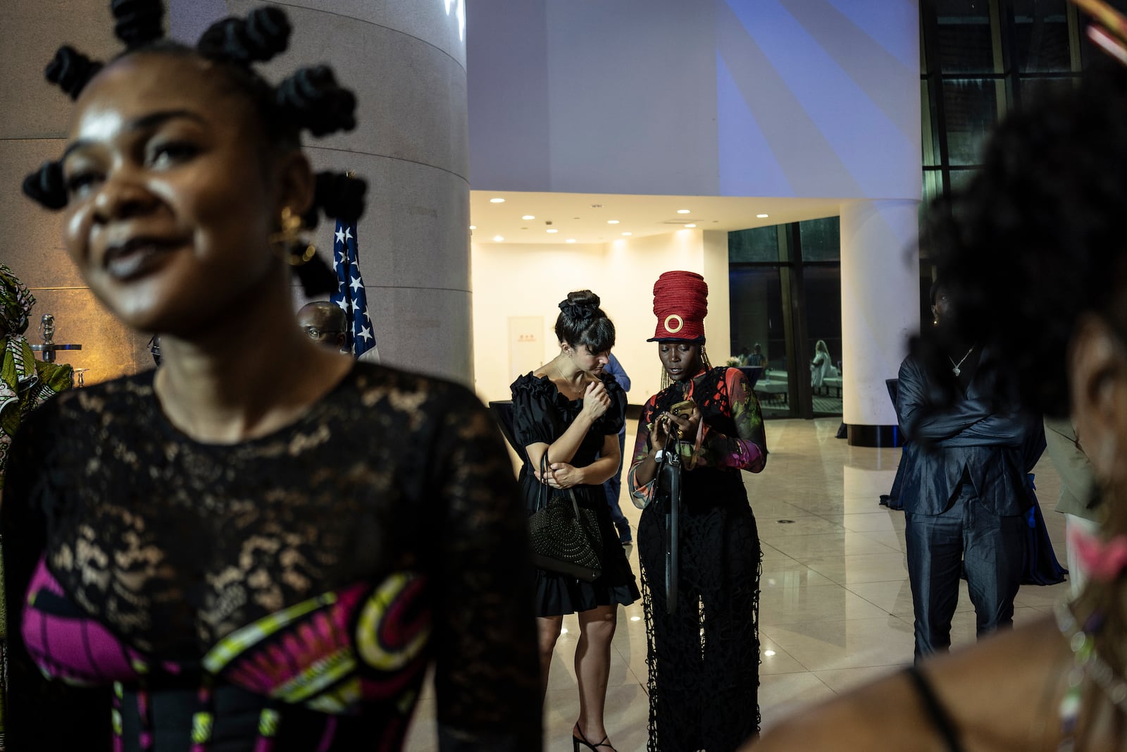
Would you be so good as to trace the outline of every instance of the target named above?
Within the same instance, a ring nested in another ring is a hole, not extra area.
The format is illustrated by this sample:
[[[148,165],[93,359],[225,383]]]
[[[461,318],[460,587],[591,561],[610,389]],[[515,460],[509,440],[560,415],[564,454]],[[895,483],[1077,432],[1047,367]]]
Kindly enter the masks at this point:
[[[934,0],[939,67],[944,73],[1001,73],[990,0]]]

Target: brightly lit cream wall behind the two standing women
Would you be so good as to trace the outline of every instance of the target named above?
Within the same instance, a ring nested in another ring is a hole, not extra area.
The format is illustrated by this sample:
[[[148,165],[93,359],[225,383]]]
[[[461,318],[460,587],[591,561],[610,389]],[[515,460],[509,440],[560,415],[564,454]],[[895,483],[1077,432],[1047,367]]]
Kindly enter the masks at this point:
[[[724,236],[722,266],[719,262]],[[542,316],[543,359],[559,352],[552,327],[557,304],[573,290],[591,289],[614,321],[618,356],[633,382],[629,401],[640,405],[660,384],[654,336],[654,282],[662,272],[685,269],[709,283],[704,330],[716,364],[729,355],[727,233],[677,230],[623,238],[606,245],[474,242],[472,253],[476,388],[485,400],[508,399],[508,318]]]

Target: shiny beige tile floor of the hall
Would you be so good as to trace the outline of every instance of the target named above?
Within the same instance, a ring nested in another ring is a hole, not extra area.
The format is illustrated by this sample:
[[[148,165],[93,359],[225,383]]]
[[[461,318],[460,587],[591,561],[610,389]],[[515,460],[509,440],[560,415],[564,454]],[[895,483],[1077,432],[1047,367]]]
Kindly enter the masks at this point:
[[[763,542],[760,602],[763,726],[848,691],[912,660],[912,593],[904,558],[904,515],[878,505],[893,485],[899,450],[849,446],[834,439],[838,418],[770,421],[771,457],[760,475],[744,474]],[[633,436],[627,436],[627,446]],[[1059,480],[1048,460],[1036,468],[1038,495],[1057,556],[1064,522],[1051,510]],[[638,510],[624,499],[631,520]],[[630,551],[637,573],[637,551]],[[1051,611],[1066,584],[1023,586],[1014,620]],[[578,715],[571,665],[578,634],[564,620],[544,707],[544,750],[571,750]],[[974,610],[962,586],[952,639],[975,639]],[[646,749],[646,630],[641,603],[620,610],[614,637],[606,728],[619,752]],[[420,702],[408,750],[435,750],[434,701]]]

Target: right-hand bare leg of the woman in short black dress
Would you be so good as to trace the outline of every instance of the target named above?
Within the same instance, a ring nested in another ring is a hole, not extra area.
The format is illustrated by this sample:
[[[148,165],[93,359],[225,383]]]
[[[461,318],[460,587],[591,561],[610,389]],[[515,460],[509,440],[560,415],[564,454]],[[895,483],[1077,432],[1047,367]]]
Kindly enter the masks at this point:
[[[575,649],[575,675],[579,681],[579,720],[576,728],[592,744],[606,737],[603,711],[611,673],[611,638],[618,623],[618,605],[600,605],[579,612],[579,642]],[[600,750],[610,750],[607,742]]]

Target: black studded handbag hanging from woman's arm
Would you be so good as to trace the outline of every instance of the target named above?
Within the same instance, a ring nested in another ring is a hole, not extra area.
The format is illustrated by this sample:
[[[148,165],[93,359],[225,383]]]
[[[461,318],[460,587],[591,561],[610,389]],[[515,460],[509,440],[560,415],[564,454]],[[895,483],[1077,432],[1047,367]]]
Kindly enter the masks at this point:
[[[548,475],[548,452],[540,459],[540,477]],[[593,510],[579,508],[575,493],[543,484],[536,511],[529,517],[532,563],[541,569],[594,582],[603,574],[598,551],[603,539]]]

